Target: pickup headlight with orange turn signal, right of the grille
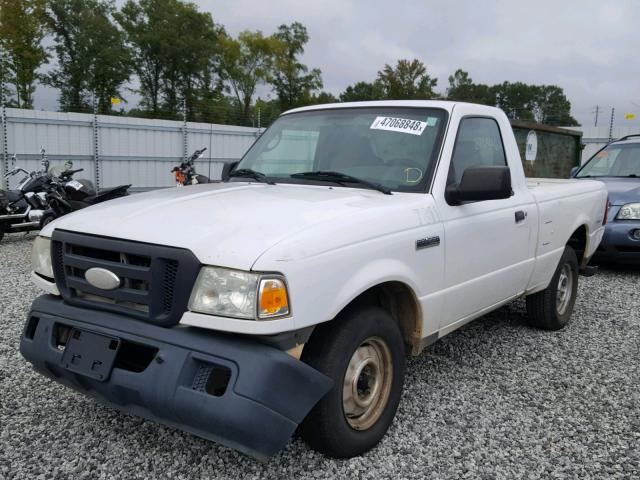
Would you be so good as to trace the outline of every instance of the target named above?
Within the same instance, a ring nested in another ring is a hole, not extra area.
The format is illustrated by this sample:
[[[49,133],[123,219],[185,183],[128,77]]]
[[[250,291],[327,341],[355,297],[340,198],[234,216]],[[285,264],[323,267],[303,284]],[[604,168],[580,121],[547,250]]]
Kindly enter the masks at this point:
[[[289,297],[281,277],[202,267],[189,310],[250,320],[277,318],[289,314]]]

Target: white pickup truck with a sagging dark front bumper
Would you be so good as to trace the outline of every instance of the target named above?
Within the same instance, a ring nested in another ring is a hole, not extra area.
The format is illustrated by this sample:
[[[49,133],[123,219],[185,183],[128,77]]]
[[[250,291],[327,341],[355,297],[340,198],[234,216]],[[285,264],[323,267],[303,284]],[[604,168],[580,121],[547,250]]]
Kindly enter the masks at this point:
[[[564,327],[606,211],[599,182],[525,179],[496,108],[296,109],[220,183],[44,228],[47,294],[20,348],[57,382],[258,458],[297,428],[351,457],[391,424],[407,353],[521,297],[532,325]]]

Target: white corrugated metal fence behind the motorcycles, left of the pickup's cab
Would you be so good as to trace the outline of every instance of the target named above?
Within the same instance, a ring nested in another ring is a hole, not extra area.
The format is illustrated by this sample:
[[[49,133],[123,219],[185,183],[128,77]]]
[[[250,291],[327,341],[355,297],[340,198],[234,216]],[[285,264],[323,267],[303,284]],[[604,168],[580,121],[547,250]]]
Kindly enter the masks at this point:
[[[171,186],[171,169],[194,150],[207,147],[196,163],[198,173],[219,178],[223,163],[240,159],[260,132],[231,125],[5,108],[0,124],[2,175],[13,168],[14,154],[16,166],[39,170],[44,147],[51,165],[72,160],[74,168],[84,168],[77,177],[89,178],[98,187]],[[11,179],[10,185],[17,180]]]

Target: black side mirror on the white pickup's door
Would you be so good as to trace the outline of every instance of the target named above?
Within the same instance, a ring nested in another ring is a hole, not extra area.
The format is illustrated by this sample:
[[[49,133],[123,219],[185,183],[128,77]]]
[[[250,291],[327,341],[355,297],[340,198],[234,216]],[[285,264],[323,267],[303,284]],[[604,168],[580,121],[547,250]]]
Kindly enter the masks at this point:
[[[469,167],[458,185],[447,187],[446,197],[449,204],[458,205],[462,202],[500,200],[509,198],[512,193],[509,167]]]

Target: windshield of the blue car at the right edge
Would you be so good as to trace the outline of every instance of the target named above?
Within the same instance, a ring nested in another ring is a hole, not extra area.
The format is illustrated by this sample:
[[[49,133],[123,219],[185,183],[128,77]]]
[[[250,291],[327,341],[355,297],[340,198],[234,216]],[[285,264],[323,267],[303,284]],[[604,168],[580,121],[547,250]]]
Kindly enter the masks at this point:
[[[609,145],[596,153],[576,177],[640,177],[640,143]]]

